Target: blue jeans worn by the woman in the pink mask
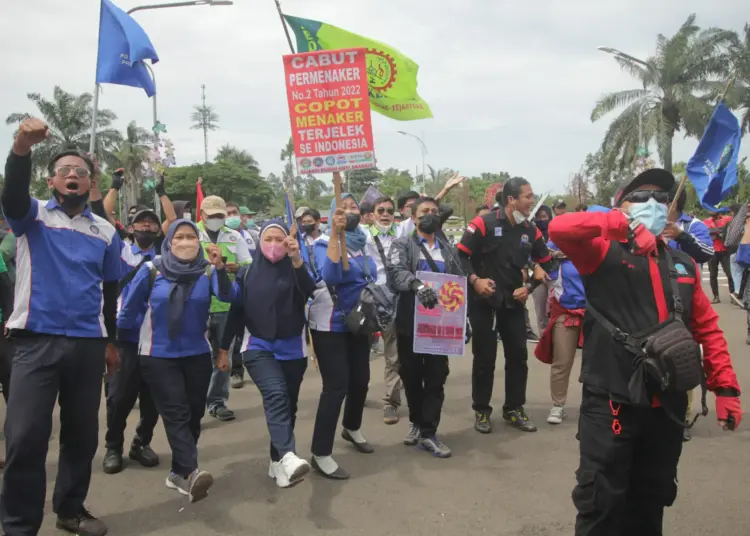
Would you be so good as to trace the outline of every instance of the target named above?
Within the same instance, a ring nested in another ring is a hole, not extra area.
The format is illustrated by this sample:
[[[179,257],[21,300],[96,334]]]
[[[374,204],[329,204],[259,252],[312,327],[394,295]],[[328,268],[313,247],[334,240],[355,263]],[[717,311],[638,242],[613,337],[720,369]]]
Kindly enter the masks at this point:
[[[263,397],[266,426],[271,436],[271,460],[294,452],[297,401],[307,359],[277,360],[271,352],[250,350],[243,354],[247,372]]]

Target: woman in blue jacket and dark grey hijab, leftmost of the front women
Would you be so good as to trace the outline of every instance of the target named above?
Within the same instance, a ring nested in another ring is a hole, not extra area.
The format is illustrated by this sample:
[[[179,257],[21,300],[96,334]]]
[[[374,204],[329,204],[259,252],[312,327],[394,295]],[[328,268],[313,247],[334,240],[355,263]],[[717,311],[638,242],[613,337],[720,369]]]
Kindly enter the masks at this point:
[[[141,370],[172,448],[166,484],[190,502],[205,498],[213,484],[211,474],[198,469],[197,450],[213,370],[204,335],[208,311],[212,296],[226,302],[233,297],[221,250],[212,245],[206,253],[208,261],[196,225],[175,221],[162,243],[161,256],[145,263],[133,278],[117,318],[118,332],[137,327],[143,319],[138,345]],[[223,357],[217,366],[228,370]]]

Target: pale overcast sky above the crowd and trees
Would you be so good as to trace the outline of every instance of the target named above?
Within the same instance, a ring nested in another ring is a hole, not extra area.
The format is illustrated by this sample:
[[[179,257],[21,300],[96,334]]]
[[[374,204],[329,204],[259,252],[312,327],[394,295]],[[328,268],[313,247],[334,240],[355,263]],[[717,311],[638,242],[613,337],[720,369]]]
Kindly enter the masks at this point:
[[[157,3],[159,0],[147,0]],[[116,0],[127,10],[144,2]],[[508,171],[537,191],[562,191],[569,173],[595,151],[610,117],[592,124],[603,93],[638,87],[599,45],[645,58],[658,33],[672,35],[690,13],[703,27],[740,30],[746,0],[284,0],[286,13],[320,20],[398,48],[420,66],[419,93],[434,119],[400,122],[373,112],[381,169],[421,165],[423,136],[435,168],[465,175]],[[206,84],[221,130],[210,133],[211,158],[224,143],[250,151],[263,174],[280,174],[289,138],[281,55],[288,52],[273,0],[230,7],[188,7],[134,14],[161,58],[155,66],[159,119],[179,165],[203,160],[203,137],[190,113]],[[5,0],[0,17],[0,116],[34,113],[26,93],[51,97],[57,84],[91,92],[98,0]],[[151,125],[142,90],[104,86],[100,106]],[[614,116],[612,116],[614,117]],[[0,126],[0,139],[13,127]],[[748,143],[745,140],[746,144]],[[675,139],[675,161],[697,141]],[[651,148],[652,151],[654,148]],[[742,153],[750,154],[746,145]]]

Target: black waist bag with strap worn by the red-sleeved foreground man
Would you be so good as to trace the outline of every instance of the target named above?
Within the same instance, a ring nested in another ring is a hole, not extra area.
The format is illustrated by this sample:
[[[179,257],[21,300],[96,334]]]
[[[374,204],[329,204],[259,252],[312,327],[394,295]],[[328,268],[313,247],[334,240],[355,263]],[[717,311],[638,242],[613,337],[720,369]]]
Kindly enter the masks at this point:
[[[703,372],[703,357],[700,345],[695,342],[690,330],[682,321],[684,308],[677,284],[677,271],[666,250],[662,257],[669,267],[670,290],[674,310],[669,318],[646,333],[631,335],[612,324],[590,303],[586,310],[612,337],[633,355],[633,374],[628,383],[628,394],[633,405],[650,406],[654,395],[687,393],[701,386],[701,413],[707,415],[706,376]],[[691,427],[684,418],[677,418],[669,411],[667,415],[681,426]]]

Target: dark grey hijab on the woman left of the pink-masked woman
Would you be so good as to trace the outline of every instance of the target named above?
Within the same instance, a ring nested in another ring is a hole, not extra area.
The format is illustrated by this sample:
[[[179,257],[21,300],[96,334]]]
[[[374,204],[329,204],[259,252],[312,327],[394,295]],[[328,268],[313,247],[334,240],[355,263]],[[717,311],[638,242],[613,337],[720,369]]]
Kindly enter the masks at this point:
[[[198,237],[198,255],[190,262],[184,262],[172,253],[172,239],[177,229],[183,225],[193,228]],[[169,226],[169,233],[161,244],[161,256],[154,259],[154,266],[159,273],[171,283],[169,288],[169,303],[167,306],[169,338],[176,339],[182,331],[182,316],[185,304],[190,299],[196,281],[206,273],[208,261],[200,245],[198,227],[188,220],[176,220]]]

